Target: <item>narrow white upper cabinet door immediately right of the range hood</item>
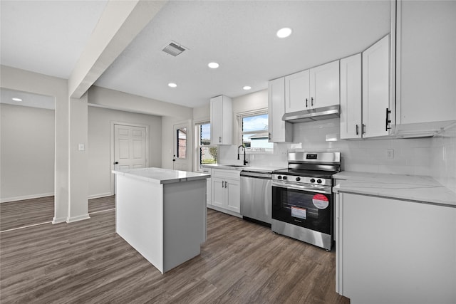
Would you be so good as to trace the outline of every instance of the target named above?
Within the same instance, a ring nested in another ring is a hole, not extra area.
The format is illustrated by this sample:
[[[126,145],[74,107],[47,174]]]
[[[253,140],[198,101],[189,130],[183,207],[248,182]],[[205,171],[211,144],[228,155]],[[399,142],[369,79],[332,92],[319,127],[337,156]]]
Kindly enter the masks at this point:
[[[361,137],[361,53],[341,59],[341,138]]]

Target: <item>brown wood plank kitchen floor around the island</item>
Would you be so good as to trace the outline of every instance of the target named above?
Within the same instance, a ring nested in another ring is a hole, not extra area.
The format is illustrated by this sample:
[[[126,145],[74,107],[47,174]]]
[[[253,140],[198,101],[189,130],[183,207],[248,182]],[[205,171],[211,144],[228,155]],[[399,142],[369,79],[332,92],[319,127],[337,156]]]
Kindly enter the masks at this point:
[[[202,253],[164,275],[115,234],[114,210],[2,232],[0,288],[2,304],[349,303],[334,252],[210,209]]]

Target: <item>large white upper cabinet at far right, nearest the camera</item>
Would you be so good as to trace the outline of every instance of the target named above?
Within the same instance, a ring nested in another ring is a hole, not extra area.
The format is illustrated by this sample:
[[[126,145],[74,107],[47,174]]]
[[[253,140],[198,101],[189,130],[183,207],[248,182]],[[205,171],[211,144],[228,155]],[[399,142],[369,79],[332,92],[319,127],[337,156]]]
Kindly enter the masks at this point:
[[[456,120],[456,1],[395,4],[395,132],[432,135]]]

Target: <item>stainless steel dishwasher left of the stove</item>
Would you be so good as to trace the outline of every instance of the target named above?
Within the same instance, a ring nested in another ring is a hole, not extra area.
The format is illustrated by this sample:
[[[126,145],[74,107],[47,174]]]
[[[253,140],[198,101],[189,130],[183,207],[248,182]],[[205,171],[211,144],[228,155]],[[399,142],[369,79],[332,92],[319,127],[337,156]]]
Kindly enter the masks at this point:
[[[241,215],[244,219],[271,226],[271,177],[271,172],[241,172]]]

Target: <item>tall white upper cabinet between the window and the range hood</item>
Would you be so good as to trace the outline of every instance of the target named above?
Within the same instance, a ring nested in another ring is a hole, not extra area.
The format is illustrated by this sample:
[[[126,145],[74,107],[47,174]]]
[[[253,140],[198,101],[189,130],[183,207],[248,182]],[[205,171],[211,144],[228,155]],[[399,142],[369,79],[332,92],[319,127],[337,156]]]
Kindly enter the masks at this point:
[[[268,83],[269,142],[291,142],[293,125],[284,122],[285,78],[270,80]]]

